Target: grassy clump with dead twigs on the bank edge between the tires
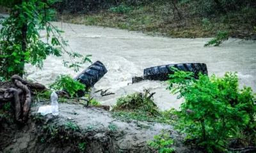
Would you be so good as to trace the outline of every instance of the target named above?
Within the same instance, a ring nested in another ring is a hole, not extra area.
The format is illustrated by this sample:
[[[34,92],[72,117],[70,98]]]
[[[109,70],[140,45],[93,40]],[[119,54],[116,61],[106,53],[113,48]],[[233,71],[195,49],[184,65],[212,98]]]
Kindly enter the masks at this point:
[[[112,106],[113,117],[127,122],[140,120],[171,124],[173,122],[171,115],[173,110],[160,111],[154,103],[153,94],[145,90],[144,94],[136,92],[128,94],[126,97],[118,98],[116,105]]]

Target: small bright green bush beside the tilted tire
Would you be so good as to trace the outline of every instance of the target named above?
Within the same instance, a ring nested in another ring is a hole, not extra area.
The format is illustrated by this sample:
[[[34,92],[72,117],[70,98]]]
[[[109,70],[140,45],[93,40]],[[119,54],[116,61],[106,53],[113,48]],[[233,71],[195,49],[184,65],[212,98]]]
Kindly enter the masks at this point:
[[[49,85],[49,88],[54,90],[63,90],[65,89],[71,97],[74,95],[77,96],[77,91],[85,91],[85,85],[73,80],[68,75],[60,75],[56,80]]]

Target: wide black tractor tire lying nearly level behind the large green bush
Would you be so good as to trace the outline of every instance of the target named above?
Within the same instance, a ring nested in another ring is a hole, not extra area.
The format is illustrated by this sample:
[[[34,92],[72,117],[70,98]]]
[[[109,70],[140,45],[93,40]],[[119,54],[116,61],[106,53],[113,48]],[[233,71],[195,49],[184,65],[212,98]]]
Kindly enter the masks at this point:
[[[144,69],[144,80],[168,80],[168,75],[174,73],[171,67],[177,68],[181,71],[191,71],[195,73],[194,77],[196,79],[198,78],[198,73],[200,72],[208,75],[207,66],[204,63],[182,63],[146,68]]]

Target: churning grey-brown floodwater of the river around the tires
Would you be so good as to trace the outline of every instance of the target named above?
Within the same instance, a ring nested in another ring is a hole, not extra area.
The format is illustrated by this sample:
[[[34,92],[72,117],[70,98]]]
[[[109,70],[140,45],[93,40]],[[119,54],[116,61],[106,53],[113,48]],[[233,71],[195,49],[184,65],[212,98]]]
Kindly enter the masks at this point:
[[[116,99],[121,96],[150,89],[156,92],[154,99],[162,110],[179,108],[183,100],[172,96],[166,90],[166,83],[146,80],[127,84],[132,81],[132,77],[143,75],[144,68],[182,62],[204,62],[209,75],[214,73],[220,77],[227,71],[237,71],[241,87],[250,86],[256,91],[256,43],[253,41],[230,39],[220,47],[204,47],[211,38],[173,39],[120,29],[61,22],[53,24],[65,31],[63,38],[70,45],[67,50],[92,55],[93,62],[101,61],[108,69],[108,73],[95,84],[95,91],[110,88],[109,91],[115,92],[115,95],[96,96],[102,105],[115,105]],[[45,36],[44,31],[40,34]],[[47,57],[42,70],[27,64],[28,78],[47,85],[61,73],[76,77],[79,72],[65,68],[63,59],[68,59],[68,56]],[[90,63],[84,64],[83,68],[88,66]]]

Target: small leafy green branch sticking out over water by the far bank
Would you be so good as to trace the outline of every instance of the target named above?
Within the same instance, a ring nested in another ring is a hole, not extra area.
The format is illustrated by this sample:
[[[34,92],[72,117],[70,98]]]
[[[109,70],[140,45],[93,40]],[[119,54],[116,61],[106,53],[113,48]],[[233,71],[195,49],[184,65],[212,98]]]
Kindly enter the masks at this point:
[[[219,46],[224,41],[228,40],[228,37],[230,36],[230,33],[228,31],[219,31],[217,36],[213,38],[212,40],[208,41],[204,46]]]

